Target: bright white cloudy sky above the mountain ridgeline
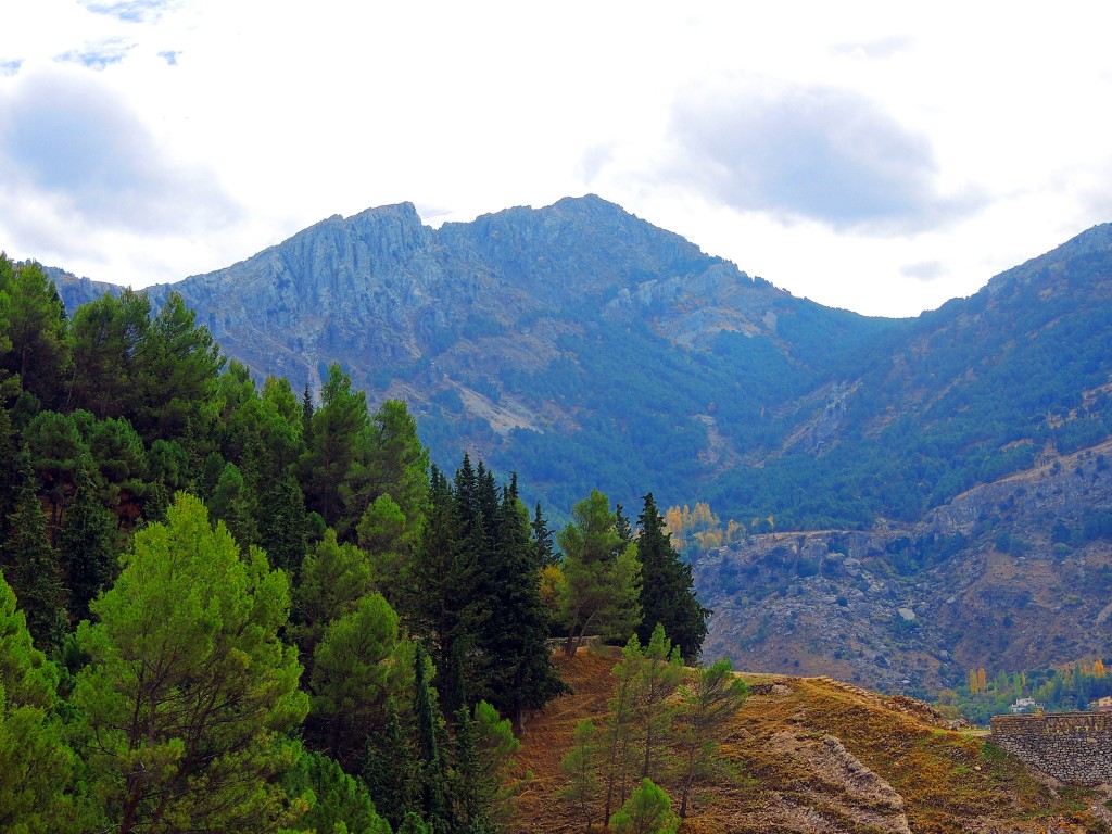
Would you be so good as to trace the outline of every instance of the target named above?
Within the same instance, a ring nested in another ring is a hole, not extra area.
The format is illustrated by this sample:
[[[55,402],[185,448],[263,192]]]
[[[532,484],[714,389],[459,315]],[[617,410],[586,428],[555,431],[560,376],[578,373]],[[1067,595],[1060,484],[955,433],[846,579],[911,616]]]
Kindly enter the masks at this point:
[[[914,316],[1112,221],[1112,3],[19,0],[0,249],[142,287],[596,193]]]

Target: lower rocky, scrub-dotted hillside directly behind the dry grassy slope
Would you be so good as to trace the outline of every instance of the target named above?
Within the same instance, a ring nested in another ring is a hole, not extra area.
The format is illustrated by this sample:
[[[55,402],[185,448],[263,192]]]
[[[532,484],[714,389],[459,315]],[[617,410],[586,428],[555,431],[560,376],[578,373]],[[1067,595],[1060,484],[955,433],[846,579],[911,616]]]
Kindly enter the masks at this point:
[[[1109,455],[1112,444],[1055,457],[963,493],[915,525],[768,534],[711,552],[695,565],[701,598],[715,610],[704,653],[888,692],[936,691],[979,666],[1102,656],[1112,553],[1100,540],[1055,543],[1053,530],[1112,506],[1112,468],[1100,463]],[[940,540],[954,549],[936,566],[893,569],[900,548]]]

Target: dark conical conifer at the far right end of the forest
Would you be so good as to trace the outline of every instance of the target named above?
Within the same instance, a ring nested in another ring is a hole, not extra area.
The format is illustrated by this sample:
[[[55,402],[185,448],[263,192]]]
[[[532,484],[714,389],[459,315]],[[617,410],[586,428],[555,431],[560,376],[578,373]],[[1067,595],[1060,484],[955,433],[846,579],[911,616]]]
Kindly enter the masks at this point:
[[[645,496],[645,507],[637,518],[637,558],[641,562],[641,607],[643,619],[637,636],[643,643],[652,639],[656,626],[663,625],[684,657],[694,661],[706,638],[706,619],[711,610],[695,596],[692,566],[679,557],[672,545],[672,534],[664,529],[664,518],[653,494]]]

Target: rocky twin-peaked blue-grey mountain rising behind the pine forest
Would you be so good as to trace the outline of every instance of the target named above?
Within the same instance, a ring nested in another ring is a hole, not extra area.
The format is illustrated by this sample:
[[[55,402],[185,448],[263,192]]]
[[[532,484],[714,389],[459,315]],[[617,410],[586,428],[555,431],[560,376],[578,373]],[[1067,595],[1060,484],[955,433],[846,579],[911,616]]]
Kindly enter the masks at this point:
[[[90,289],[61,286],[71,309]],[[892,327],[594,196],[440,229],[409,203],[337,216],[148,294],[171,290],[256,375],[316,389],[339,361],[373,399],[405,397],[443,463],[467,447],[564,510],[593,486],[693,499],[805,424],[813,407],[771,415]]]

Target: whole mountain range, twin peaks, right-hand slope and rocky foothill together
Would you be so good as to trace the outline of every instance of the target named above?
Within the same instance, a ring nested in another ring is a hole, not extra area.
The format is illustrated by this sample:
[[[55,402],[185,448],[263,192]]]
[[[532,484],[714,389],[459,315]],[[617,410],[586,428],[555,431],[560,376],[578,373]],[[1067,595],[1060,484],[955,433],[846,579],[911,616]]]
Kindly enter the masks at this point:
[[[70,309],[102,291],[57,275]],[[922,691],[1108,652],[1112,225],[915,319],[794,298],[594,196],[332,217],[149,290],[258,376],[341,363],[559,517],[709,500],[708,652]],[[725,524],[723,525],[725,526]]]

